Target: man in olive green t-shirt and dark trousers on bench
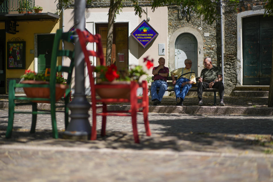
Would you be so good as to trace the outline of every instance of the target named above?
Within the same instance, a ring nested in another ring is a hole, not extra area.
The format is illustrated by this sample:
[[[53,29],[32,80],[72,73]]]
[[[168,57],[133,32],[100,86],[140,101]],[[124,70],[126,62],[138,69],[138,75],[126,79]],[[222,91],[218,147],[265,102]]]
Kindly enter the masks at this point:
[[[204,66],[200,78],[198,79],[197,93],[198,93],[198,106],[203,106],[202,94],[205,88],[218,88],[220,97],[220,106],[225,106],[224,103],[224,84],[222,82],[222,71],[219,67],[213,66],[211,58],[206,56],[204,58]]]

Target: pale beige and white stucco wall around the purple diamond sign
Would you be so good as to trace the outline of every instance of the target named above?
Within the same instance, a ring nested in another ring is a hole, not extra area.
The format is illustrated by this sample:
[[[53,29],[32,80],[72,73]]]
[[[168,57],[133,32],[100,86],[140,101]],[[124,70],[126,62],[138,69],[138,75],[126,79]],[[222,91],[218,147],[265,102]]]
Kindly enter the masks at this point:
[[[154,59],[154,66],[158,65],[158,58],[164,57],[166,59],[166,66],[168,66],[168,55],[167,55],[167,7],[159,7],[152,12],[150,7],[143,7],[147,11],[148,15],[143,14],[142,18],[135,15],[134,8],[124,7],[122,12],[116,16],[115,22],[128,22],[129,24],[129,65],[145,65],[143,58],[149,56],[150,59]],[[67,9],[64,12],[64,31],[68,31],[74,25],[73,9]],[[108,22],[108,8],[90,8],[86,9],[86,29],[92,34],[96,33],[96,23],[107,23]],[[150,20],[147,20],[150,17]],[[142,22],[146,20],[157,32],[158,36],[146,47],[143,48],[130,33]],[[158,55],[158,44],[165,44],[165,55]],[[96,49],[92,44],[87,45],[88,49]],[[96,63],[96,58],[90,58]],[[66,60],[65,63],[66,64]],[[152,75],[152,68],[147,70],[144,66],[144,70],[148,75]],[[87,71],[85,71],[87,75]],[[86,79],[86,86],[88,86],[88,78]]]

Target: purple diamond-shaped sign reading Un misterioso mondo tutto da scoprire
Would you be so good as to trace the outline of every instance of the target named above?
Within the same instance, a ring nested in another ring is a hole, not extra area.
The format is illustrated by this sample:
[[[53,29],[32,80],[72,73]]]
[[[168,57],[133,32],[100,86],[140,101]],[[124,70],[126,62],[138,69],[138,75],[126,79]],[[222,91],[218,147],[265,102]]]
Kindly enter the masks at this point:
[[[133,36],[133,38],[135,38],[137,42],[145,48],[154,38],[156,38],[156,36],[158,36],[158,33],[152,26],[150,26],[150,24],[148,24],[148,22],[143,20],[131,33],[131,36]]]

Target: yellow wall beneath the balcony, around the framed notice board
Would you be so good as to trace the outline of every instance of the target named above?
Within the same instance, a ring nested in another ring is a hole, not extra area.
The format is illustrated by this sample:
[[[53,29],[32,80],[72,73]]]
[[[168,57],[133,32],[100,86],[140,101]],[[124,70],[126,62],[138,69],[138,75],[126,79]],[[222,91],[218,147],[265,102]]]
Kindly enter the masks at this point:
[[[2,24],[2,23],[1,23]],[[0,27],[2,27],[0,24]],[[56,33],[57,29],[59,29],[59,20],[54,21],[31,21],[31,22],[17,22],[19,26],[17,26],[17,32],[15,35],[6,34],[6,42],[11,40],[12,38],[20,38],[24,39],[26,42],[26,70],[31,69],[34,71],[34,53],[30,54],[30,50],[34,50],[34,34],[39,33]],[[7,52],[7,50],[6,50]],[[7,56],[7,55],[6,55]],[[7,59],[7,57],[6,57]],[[6,62],[7,68],[7,62]],[[24,74],[25,70],[21,69],[6,69],[6,78],[20,78],[21,75]]]

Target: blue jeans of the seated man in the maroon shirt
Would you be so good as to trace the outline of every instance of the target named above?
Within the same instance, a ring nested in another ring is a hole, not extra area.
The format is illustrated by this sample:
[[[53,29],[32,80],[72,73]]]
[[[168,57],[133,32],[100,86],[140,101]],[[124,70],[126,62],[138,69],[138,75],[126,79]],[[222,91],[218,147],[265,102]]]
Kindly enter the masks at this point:
[[[156,88],[159,88],[158,94],[156,93]],[[165,82],[163,80],[154,81],[153,84],[151,85],[152,100],[158,99],[161,102],[163,95],[164,95],[165,91],[167,90],[167,88],[168,88],[167,82]]]

